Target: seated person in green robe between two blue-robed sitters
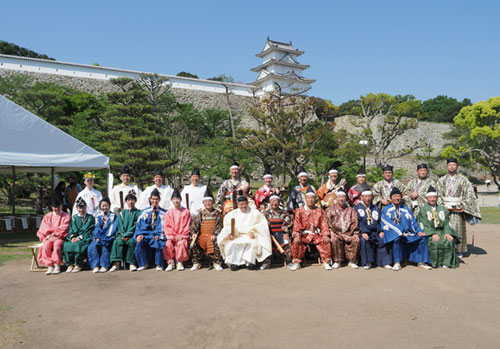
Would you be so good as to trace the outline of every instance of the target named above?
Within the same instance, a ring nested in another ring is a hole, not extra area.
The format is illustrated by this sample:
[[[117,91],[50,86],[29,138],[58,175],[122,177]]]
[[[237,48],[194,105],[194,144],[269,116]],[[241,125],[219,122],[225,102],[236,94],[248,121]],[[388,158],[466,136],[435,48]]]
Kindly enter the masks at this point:
[[[111,247],[111,263],[113,266],[110,273],[120,269],[120,263],[125,261],[129,264],[130,271],[137,270],[137,260],[135,259],[135,240],[133,239],[135,225],[141,214],[141,211],[135,207],[137,198],[129,193],[125,196],[127,208],[120,211],[117,219],[115,241]]]

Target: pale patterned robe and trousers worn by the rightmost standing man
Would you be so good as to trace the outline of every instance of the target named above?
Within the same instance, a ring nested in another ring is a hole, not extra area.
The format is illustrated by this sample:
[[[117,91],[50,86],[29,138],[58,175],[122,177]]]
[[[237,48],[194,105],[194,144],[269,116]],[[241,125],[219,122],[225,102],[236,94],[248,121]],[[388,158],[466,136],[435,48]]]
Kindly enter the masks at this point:
[[[441,177],[438,181],[438,204],[444,205],[445,197],[460,198],[460,205],[464,212],[450,212],[450,224],[460,239],[457,247],[459,253],[467,252],[467,230],[465,227],[466,214],[481,218],[479,205],[469,180],[461,175],[449,174]]]

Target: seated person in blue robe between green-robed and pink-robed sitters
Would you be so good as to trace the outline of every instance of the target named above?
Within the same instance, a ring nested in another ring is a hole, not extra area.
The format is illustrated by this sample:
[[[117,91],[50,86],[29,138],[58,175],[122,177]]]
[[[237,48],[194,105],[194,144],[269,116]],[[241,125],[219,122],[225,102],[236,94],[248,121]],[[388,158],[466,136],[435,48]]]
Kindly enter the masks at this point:
[[[165,260],[163,248],[165,247],[165,234],[163,233],[163,217],[167,212],[160,207],[160,192],[154,189],[149,196],[151,207],[142,210],[137,225],[135,226],[134,240],[135,257],[139,268],[146,269],[150,262],[156,264],[156,270],[163,270]]]

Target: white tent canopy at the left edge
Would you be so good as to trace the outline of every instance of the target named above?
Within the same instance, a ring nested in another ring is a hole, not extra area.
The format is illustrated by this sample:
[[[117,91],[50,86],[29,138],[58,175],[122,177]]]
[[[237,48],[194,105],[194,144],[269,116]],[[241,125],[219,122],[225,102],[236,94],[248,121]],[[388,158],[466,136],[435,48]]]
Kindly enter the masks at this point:
[[[109,168],[109,158],[0,95],[0,171]]]

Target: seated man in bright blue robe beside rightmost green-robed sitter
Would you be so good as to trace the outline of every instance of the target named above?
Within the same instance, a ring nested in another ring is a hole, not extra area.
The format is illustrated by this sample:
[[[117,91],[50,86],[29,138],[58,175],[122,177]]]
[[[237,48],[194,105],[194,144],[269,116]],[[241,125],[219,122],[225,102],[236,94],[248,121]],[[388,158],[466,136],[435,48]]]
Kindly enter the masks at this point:
[[[401,191],[394,187],[390,195],[391,203],[382,210],[384,244],[392,244],[392,270],[401,270],[401,262],[405,257],[419,267],[430,270],[432,267],[429,265],[431,260],[426,235],[412,211],[401,203],[402,197]]]

